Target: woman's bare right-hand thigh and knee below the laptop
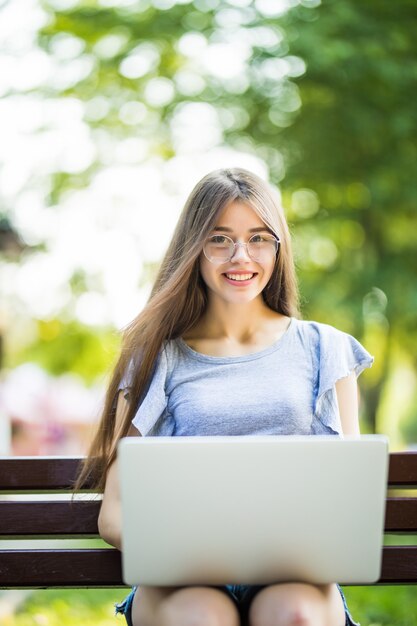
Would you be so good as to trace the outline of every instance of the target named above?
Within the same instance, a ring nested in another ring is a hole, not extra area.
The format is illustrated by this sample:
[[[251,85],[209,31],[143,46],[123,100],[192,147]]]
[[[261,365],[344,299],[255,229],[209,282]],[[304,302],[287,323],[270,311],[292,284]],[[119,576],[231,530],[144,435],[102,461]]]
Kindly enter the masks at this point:
[[[337,585],[285,583],[258,592],[248,621],[249,626],[345,626],[346,614]]]

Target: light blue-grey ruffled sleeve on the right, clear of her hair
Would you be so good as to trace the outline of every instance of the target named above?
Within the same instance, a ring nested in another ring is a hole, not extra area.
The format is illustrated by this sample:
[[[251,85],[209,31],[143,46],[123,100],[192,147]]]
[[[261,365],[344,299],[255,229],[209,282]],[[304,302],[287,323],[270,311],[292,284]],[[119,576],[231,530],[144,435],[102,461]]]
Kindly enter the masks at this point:
[[[370,367],[374,358],[351,335],[326,324],[317,324],[318,380],[315,396],[313,434],[342,434],[335,384]]]

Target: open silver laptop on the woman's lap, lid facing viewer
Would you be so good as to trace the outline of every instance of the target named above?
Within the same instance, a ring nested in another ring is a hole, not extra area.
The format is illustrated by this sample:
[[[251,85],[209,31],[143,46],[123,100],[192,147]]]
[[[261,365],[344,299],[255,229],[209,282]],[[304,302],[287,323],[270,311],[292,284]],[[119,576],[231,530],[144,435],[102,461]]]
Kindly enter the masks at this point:
[[[129,585],[380,576],[386,437],[129,437],[118,454]]]

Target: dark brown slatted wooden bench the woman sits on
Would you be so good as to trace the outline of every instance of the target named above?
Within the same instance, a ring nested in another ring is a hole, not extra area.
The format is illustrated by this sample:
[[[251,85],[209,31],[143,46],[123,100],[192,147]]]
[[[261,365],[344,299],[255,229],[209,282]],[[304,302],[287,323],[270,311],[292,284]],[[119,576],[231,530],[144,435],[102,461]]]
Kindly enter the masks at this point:
[[[0,459],[0,536],[2,539],[97,538],[100,500],[65,500],[77,474],[79,458]],[[392,453],[385,533],[417,533],[417,452]],[[401,489],[400,493],[391,493]],[[41,500],[7,496],[42,494]],[[58,499],[55,495],[59,494]],[[6,496],[6,498],[4,497]],[[61,499],[59,499],[61,498]],[[416,584],[417,546],[383,549],[377,584]],[[120,553],[113,548],[0,549],[0,588],[120,587]]]

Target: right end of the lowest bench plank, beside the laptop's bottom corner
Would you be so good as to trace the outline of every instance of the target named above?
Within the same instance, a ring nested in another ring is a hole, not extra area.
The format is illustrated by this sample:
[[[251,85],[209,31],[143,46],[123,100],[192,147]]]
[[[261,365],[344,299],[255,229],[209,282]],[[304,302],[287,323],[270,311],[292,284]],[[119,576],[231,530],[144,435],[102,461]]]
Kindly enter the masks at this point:
[[[416,584],[417,546],[384,547],[381,578],[378,582],[384,584]]]

